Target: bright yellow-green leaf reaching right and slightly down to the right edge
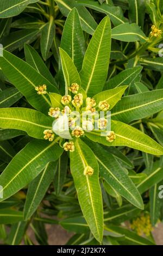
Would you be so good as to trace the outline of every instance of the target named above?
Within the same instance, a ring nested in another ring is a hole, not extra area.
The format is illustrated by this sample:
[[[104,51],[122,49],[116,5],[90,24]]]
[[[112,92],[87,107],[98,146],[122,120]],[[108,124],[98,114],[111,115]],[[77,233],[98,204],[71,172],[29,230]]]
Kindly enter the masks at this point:
[[[85,132],[85,135],[94,142],[106,146],[126,146],[141,150],[153,155],[163,155],[163,148],[152,138],[132,126],[120,121],[111,121],[111,130],[115,132],[116,139],[113,142],[106,141],[105,136],[101,136],[101,131]]]

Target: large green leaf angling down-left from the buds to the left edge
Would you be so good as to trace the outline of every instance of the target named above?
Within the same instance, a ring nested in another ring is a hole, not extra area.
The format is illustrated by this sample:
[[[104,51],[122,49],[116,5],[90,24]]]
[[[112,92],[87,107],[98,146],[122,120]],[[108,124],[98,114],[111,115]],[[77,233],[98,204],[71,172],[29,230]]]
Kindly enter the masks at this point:
[[[21,190],[39,175],[48,162],[56,161],[61,154],[62,149],[55,141],[52,143],[40,140],[29,142],[12,159],[0,176],[2,186],[0,193],[3,192],[3,198],[0,200],[5,200]]]

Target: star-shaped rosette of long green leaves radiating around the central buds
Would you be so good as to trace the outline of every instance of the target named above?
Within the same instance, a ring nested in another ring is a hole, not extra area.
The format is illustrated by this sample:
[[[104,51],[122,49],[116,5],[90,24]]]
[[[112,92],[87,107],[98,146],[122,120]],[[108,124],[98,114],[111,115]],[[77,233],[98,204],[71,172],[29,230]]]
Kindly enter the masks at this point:
[[[78,27],[75,42],[73,41],[74,34],[68,33],[68,29],[70,29],[68,22],[72,22],[72,17],[76,17],[75,26]],[[110,151],[110,149],[129,147],[143,153],[163,155],[163,148],[160,144],[129,124],[133,120],[146,118],[163,108],[162,89],[123,96],[124,92],[128,90],[128,86],[121,86],[122,83],[118,83],[120,76],[117,76],[117,80],[115,76],[115,83],[110,80],[112,86],[110,89],[104,90],[111,49],[109,17],[104,17],[99,23],[86,52],[82,26],[76,9],[71,11],[66,22],[67,26],[65,25],[61,39],[60,63],[62,69],[59,74],[60,79],[64,78],[65,81],[65,95],[60,93],[60,90],[63,92],[63,88],[59,88],[31,46],[25,46],[27,62],[5,50],[3,57],[0,58],[4,76],[26,97],[31,106],[30,108],[1,108],[0,126],[3,129],[11,129],[11,131],[13,131],[12,129],[18,130],[18,135],[21,130],[34,138],[12,158],[3,170],[0,176],[1,192],[3,192],[1,201],[5,202],[6,199],[30,183],[24,211],[20,211],[16,218],[17,222],[29,220],[51,184],[58,161],[61,164],[60,159],[62,154],[65,154],[64,149],[68,150],[64,144],[72,142],[74,148],[71,148],[70,154],[68,152],[70,169],[84,216],[77,222],[82,223],[86,230],[90,229],[95,239],[102,242],[105,226],[99,177],[105,181],[106,190],[114,194],[120,205],[121,197],[123,197],[137,209],[144,208],[141,193],[146,191],[146,182],[136,186],[126,168],[121,165],[121,161],[125,161],[132,168],[131,162],[124,155],[118,156],[118,153],[112,153],[114,151]],[[35,68],[28,64],[31,53],[34,56]],[[140,66],[135,68],[140,72]],[[75,94],[72,90],[74,84],[79,87]],[[107,87],[109,87],[109,82]],[[82,101],[77,105],[75,100],[79,94]],[[65,102],[67,95],[70,97]],[[113,137],[110,138],[110,133],[101,136],[97,130],[85,130],[80,133],[80,136],[76,136],[73,131],[68,131],[71,135],[70,139],[67,136],[66,138],[60,136],[59,131],[55,133],[55,129],[52,127],[53,121],[60,118],[54,116],[56,112],[53,115],[53,111],[56,111],[55,108],[65,111],[66,105],[71,111],[77,110],[82,113],[82,110],[89,105],[87,104],[89,100],[96,103],[95,106],[91,106],[96,111],[104,109],[102,103],[107,106],[107,110],[111,111],[111,131],[113,132],[111,136]],[[48,112],[51,117],[48,116]],[[45,137],[46,135],[48,136]],[[17,136],[16,133],[14,136]],[[43,137],[48,139],[45,140]],[[115,157],[115,155],[117,156]],[[118,157],[121,161],[118,161]],[[13,212],[11,215],[13,216]],[[124,233],[121,228],[117,230],[110,226],[109,229],[106,227],[105,229],[108,232]]]

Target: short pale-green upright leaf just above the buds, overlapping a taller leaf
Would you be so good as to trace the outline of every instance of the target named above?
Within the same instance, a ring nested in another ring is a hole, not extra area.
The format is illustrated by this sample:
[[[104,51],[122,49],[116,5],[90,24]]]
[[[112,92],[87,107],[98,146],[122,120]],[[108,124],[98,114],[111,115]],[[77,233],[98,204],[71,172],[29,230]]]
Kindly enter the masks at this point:
[[[72,83],[81,84],[80,77],[77,71],[76,66],[73,64],[70,56],[60,48],[60,57],[62,64],[62,71],[64,73],[65,79],[65,94],[68,94],[68,87],[71,86]]]

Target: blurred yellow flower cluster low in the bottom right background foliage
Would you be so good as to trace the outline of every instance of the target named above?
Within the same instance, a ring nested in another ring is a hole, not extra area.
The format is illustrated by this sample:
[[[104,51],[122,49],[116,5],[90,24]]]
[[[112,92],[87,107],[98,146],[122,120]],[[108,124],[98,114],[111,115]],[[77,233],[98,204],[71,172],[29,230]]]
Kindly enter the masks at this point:
[[[149,236],[153,230],[149,214],[142,214],[130,224],[130,228],[135,230],[138,235]]]

